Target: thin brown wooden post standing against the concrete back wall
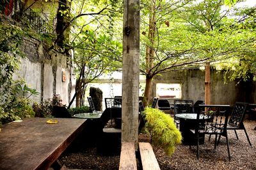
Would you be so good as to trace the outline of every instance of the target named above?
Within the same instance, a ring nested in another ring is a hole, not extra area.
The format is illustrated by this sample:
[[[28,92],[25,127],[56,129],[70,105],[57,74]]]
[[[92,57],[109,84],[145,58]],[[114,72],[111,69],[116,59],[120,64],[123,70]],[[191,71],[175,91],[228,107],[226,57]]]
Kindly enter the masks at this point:
[[[211,104],[211,71],[210,63],[205,64],[205,104]]]

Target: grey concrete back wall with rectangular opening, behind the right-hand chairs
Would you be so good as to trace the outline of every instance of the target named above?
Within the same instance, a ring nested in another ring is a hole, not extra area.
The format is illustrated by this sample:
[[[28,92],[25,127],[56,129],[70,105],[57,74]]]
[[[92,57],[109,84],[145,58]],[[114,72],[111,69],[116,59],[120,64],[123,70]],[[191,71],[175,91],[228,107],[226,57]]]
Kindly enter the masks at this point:
[[[204,100],[205,72],[201,70],[175,71],[156,76],[152,96],[156,96],[156,83],[181,83],[182,99]],[[223,74],[211,70],[211,103],[230,104],[236,101],[255,103],[255,82],[229,81],[224,83]],[[173,103],[173,99],[168,99]]]

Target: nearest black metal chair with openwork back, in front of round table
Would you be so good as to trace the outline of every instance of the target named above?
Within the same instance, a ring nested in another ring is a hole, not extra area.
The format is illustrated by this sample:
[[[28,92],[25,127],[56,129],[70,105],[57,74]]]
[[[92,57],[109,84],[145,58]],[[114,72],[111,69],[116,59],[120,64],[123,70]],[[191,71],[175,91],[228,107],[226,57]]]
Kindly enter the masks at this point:
[[[196,157],[199,159],[199,139],[203,138],[200,134],[214,134],[214,150],[217,145],[217,137],[223,133],[227,134],[227,122],[228,122],[228,111],[229,105],[199,105],[200,112],[197,113],[195,129],[190,131],[195,134],[197,140],[196,145]],[[228,159],[230,160],[230,151],[228,144],[228,135],[226,137]],[[189,145],[191,148],[191,145]]]

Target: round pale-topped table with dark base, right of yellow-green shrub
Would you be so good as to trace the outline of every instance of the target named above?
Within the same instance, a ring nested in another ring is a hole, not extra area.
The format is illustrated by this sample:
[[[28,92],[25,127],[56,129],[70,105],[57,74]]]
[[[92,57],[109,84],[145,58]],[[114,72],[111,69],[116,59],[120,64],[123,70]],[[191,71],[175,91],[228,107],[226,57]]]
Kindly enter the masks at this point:
[[[196,126],[196,113],[180,113],[175,117],[180,120],[180,132],[182,133],[182,143],[184,145],[196,145],[195,134],[189,129],[195,129]],[[199,134],[199,144],[204,144],[204,134]]]

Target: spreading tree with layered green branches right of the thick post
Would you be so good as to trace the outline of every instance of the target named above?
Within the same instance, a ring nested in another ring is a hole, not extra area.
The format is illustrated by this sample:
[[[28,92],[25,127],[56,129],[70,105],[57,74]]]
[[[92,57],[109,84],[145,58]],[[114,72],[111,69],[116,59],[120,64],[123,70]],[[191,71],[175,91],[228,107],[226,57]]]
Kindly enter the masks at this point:
[[[224,1],[152,1],[152,4],[155,10],[151,10],[152,5],[148,3],[142,8],[144,16],[156,18],[155,29],[148,31],[156,30],[154,41],[145,29],[145,25],[152,28],[148,24],[151,22],[143,20],[145,36],[141,36],[141,40],[146,50],[141,51],[146,54],[141,53],[144,61],[141,73],[146,75],[145,99],[150,97],[150,82],[156,74],[198,67],[196,64],[204,62],[214,64],[240,55],[252,46],[253,33],[234,27],[230,9],[223,8]],[[154,15],[150,11],[154,11]]]

